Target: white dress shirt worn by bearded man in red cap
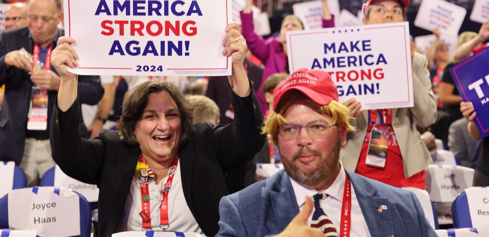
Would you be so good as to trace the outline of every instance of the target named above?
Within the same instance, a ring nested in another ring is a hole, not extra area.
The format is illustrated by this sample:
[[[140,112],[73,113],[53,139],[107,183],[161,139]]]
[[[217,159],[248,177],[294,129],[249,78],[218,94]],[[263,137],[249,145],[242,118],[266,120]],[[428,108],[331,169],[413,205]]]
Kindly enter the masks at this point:
[[[292,189],[294,190],[295,199],[297,200],[297,205],[299,209],[302,209],[305,204],[304,196],[312,196],[314,194],[329,194],[329,196],[319,200],[319,205],[323,209],[324,213],[328,215],[333,222],[336,232],[339,231],[340,221],[341,221],[341,206],[343,204],[343,190],[345,189],[345,169],[343,164],[340,164],[340,171],[333,184],[326,190],[315,190],[302,186],[295,180],[290,178],[292,183]],[[356,199],[355,189],[352,185],[352,210],[351,210],[351,220],[350,220],[350,236],[351,237],[371,237],[370,232],[367,227],[367,222],[365,222],[365,217],[360,209],[360,204]],[[307,220],[307,225],[311,226],[312,214],[315,208],[312,207],[311,215]]]

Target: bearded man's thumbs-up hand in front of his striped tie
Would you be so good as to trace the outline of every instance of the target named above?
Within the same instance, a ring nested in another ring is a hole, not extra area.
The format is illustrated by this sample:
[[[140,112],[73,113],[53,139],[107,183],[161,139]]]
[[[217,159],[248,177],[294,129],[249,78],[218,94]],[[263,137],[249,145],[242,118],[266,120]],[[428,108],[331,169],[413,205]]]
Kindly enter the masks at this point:
[[[324,233],[317,228],[311,228],[307,225],[307,219],[312,212],[311,197],[306,196],[304,208],[297,214],[282,233],[275,237],[324,237]]]

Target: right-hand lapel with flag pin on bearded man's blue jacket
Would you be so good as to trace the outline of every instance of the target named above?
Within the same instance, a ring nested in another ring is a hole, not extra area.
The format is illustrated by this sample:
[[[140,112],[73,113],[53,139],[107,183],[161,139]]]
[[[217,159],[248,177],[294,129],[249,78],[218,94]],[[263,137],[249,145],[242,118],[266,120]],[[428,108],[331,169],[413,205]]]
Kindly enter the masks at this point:
[[[373,237],[395,235],[392,212],[396,207],[391,206],[387,198],[377,197],[377,188],[366,180],[359,178],[356,174],[347,173],[355,189],[356,199],[367,222],[370,235]],[[385,206],[386,209],[382,209],[381,206]],[[379,207],[382,209],[381,212]]]

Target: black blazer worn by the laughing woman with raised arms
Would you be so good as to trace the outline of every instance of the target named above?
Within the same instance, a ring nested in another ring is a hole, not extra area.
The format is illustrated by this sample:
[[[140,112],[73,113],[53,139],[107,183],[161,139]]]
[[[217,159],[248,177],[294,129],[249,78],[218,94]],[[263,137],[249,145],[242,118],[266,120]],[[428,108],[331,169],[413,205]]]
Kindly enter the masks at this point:
[[[217,127],[195,123],[192,138],[180,144],[178,151],[183,194],[208,237],[219,231],[219,201],[228,193],[223,173],[250,161],[265,141],[265,135],[260,134],[263,114],[256,94],[241,98],[231,92],[231,98],[235,123]],[[81,139],[78,118],[77,102],[66,112],[55,106],[50,133],[52,156],[68,176],[99,187],[95,236],[110,237],[122,215],[141,151],[121,141],[115,131],[103,130],[95,139]]]

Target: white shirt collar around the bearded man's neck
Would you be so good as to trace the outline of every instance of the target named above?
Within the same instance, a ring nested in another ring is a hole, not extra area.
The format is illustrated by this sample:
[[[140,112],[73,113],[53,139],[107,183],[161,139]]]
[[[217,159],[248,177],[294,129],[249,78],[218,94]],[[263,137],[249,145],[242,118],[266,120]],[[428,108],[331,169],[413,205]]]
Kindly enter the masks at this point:
[[[292,189],[294,190],[297,206],[299,207],[304,205],[304,202],[306,202],[306,199],[304,198],[305,195],[312,197],[314,194],[318,193],[328,194],[334,199],[343,202],[343,190],[345,189],[345,169],[343,168],[343,163],[341,163],[341,161],[338,176],[336,176],[333,184],[326,190],[317,191],[315,189],[304,187],[292,178],[290,178],[290,182],[292,183]]]

